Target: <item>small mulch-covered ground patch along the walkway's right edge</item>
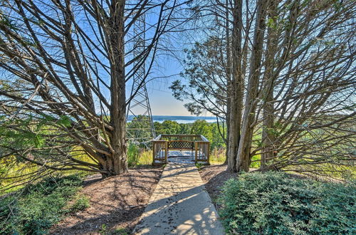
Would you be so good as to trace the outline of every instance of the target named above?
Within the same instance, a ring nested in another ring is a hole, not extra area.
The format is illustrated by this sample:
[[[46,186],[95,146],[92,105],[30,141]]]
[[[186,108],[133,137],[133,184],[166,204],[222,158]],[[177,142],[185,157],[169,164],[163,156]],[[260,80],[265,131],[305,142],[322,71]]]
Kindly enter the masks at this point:
[[[199,169],[206,191],[209,192],[216,209],[219,209],[219,205],[216,204],[216,198],[221,193],[221,187],[224,185],[224,182],[237,175],[236,173],[226,172],[226,167],[226,164],[219,164],[201,167],[201,169]]]

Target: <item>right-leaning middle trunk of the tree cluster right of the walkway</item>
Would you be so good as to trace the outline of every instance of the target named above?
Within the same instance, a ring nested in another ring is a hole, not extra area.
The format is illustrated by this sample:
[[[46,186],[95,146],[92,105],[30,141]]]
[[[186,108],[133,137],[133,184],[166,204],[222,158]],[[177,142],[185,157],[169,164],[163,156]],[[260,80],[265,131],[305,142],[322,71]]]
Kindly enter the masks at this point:
[[[251,164],[251,143],[253,136],[253,121],[257,105],[258,82],[260,78],[261,60],[263,53],[263,36],[266,26],[266,6],[268,0],[257,2],[256,26],[253,35],[253,48],[251,52],[250,71],[248,74],[248,87],[242,120],[239,150],[236,159],[236,171],[248,172]]]

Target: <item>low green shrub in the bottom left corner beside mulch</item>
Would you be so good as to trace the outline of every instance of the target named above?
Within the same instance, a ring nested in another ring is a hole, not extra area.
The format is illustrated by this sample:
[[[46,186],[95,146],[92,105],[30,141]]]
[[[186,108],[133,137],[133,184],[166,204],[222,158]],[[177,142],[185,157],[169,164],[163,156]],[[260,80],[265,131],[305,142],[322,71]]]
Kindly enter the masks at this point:
[[[29,185],[21,194],[0,199],[0,234],[46,234],[68,212],[64,207],[78,191],[78,175],[48,177]],[[87,206],[85,199],[75,201],[72,209]]]

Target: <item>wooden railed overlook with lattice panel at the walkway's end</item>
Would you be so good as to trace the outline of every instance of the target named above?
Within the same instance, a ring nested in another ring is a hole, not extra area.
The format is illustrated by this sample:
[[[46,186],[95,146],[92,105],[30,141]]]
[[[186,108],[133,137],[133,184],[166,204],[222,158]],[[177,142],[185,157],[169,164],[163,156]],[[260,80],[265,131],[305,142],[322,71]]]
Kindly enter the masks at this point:
[[[203,135],[159,135],[152,145],[152,164],[166,164],[169,150],[191,150],[196,163],[209,164],[210,142]]]

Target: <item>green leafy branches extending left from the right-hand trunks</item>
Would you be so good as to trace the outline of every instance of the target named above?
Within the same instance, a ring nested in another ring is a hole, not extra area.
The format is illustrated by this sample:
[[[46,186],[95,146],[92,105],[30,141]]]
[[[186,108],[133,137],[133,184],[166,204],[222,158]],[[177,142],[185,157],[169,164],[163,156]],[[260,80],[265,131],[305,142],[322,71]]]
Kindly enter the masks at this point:
[[[224,115],[221,110],[224,110],[226,100],[221,97],[226,96],[228,77],[222,66],[222,61],[226,61],[226,53],[221,53],[221,48],[224,47],[225,40],[209,36],[184,50],[184,70],[179,74],[182,78],[175,80],[169,88],[177,100],[190,101],[184,104],[189,113],[200,115],[204,110],[208,110]]]

